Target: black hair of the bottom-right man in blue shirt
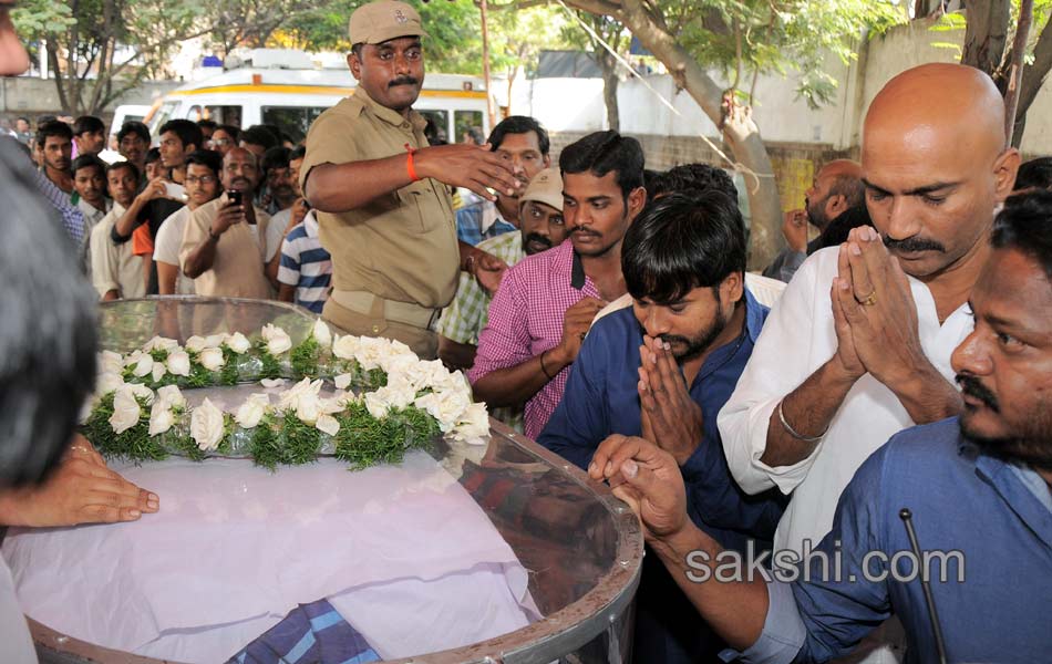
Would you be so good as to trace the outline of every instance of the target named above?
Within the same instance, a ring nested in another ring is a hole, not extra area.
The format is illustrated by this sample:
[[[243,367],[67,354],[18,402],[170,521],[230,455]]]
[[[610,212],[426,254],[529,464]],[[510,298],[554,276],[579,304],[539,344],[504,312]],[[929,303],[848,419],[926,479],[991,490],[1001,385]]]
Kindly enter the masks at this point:
[[[1017,249],[1038,261],[1052,281],[1052,191],[1033,189],[1010,196],[993,220],[994,249]]]

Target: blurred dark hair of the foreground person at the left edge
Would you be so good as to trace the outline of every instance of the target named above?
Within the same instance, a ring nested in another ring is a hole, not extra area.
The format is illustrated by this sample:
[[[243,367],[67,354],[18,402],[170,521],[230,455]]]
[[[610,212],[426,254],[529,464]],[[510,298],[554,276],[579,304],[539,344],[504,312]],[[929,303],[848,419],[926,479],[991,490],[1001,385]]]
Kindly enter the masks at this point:
[[[0,487],[39,483],[70,444],[95,383],[95,302],[75,247],[0,142]]]

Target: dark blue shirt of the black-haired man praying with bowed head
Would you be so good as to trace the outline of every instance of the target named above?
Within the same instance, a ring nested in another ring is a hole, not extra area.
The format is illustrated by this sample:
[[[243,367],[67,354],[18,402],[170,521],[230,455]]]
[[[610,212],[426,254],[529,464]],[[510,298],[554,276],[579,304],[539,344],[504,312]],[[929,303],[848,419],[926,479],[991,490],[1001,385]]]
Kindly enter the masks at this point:
[[[784,498],[776,491],[747,496],[731,478],[716,414],[730,398],[745,369],[767,315],[745,290],[745,324],[741,335],[713,350],[699,370],[690,395],[701,406],[702,439],[681,467],[688,511],[700,528],[729,549],[745,551],[752,537],[769,547]],[[570,367],[566,392],[537,442],[586,468],[599,444],[611,434],[638,436],[639,346],[643,331],[631,308],[596,323]],[[698,615],[657,556],[643,559],[636,596],[636,662],[694,664],[711,662],[725,647]]]

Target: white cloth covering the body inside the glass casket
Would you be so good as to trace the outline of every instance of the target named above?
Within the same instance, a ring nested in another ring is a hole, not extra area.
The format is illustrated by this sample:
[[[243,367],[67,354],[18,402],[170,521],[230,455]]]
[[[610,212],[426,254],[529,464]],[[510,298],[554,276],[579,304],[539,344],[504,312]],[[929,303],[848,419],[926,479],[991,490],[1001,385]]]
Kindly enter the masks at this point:
[[[413,452],[399,466],[347,467],[115,464],[161,496],[161,511],[127,523],[12,529],[3,557],[27,615],[178,662],[226,661],[297,603],[322,598],[385,658],[529,624],[526,570],[434,459]]]

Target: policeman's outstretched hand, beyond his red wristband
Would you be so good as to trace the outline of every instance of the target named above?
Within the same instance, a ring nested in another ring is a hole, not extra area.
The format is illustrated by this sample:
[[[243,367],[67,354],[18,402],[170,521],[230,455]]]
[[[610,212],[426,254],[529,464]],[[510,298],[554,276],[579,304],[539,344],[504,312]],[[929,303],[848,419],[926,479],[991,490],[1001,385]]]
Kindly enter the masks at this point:
[[[496,200],[488,189],[516,196],[526,187],[522,167],[515,167],[489,145],[435,145],[416,151],[413,155],[416,175],[465,187],[486,200]]]

